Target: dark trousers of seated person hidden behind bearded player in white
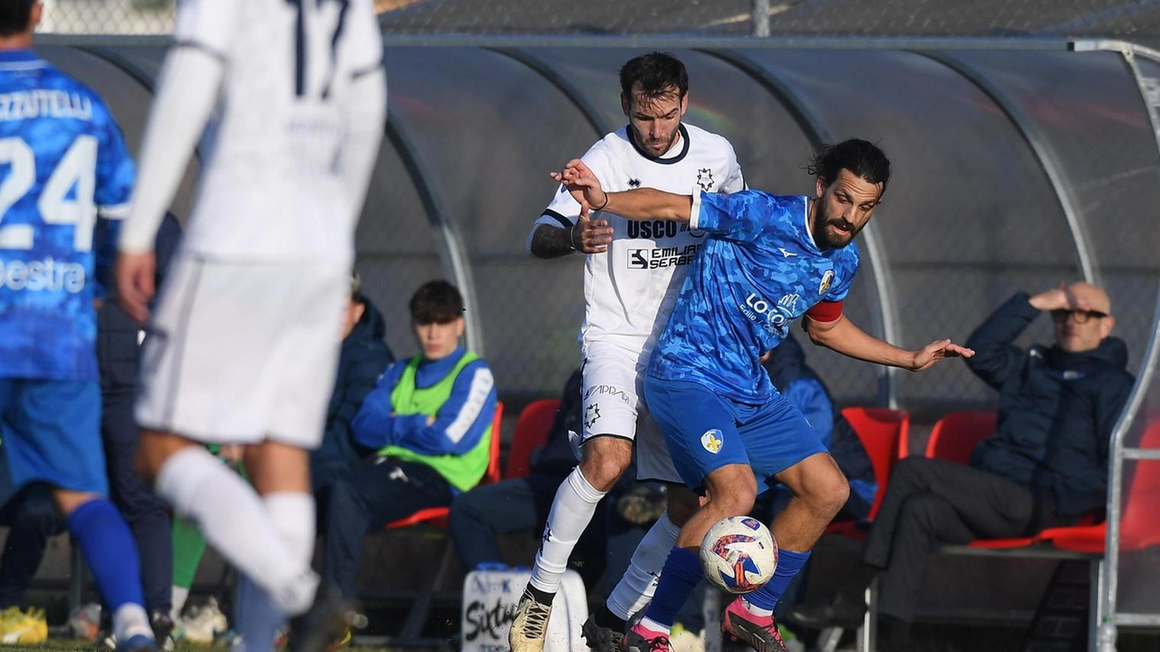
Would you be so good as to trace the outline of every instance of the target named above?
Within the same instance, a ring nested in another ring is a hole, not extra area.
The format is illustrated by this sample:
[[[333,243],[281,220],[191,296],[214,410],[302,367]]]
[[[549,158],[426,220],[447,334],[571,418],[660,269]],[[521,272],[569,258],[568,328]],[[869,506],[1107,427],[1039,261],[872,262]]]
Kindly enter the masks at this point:
[[[524,530],[537,535],[542,533],[556,499],[556,491],[567,476],[568,473],[531,473],[457,495],[451,502],[449,530],[464,571],[472,571],[484,563],[503,562],[498,535]],[[602,500],[597,506],[592,524],[577,542],[568,564],[580,573],[585,586],[589,588],[604,570],[606,502],[607,500]],[[641,536],[643,534],[636,534],[635,539],[629,542],[628,556],[632,555],[636,542]],[[609,546],[622,538],[624,537],[609,538]]]

